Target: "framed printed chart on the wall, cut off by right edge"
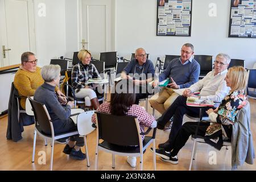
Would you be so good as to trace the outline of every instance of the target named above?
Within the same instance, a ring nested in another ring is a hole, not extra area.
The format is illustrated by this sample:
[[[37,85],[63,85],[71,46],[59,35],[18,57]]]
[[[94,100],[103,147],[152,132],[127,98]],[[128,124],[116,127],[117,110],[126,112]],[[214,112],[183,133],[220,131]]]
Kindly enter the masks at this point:
[[[256,38],[256,0],[231,0],[229,38]]]

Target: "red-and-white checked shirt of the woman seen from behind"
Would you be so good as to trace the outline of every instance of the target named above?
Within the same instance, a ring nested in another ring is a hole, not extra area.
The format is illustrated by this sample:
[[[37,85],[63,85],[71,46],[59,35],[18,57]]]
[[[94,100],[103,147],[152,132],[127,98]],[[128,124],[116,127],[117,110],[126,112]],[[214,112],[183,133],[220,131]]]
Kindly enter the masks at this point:
[[[110,103],[104,102],[100,107],[98,107],[97,111],[110,114]],[[155,118],[151,114],[148,114],[141,106],[135,104],[129,108],[126,115],[133,115],[137,117],[141,132],[144,132],[144,126],[151,127],[152,123],[155,121]],[[92,122],[96,123],[95,114],[92,116]],[[142,135],[142,140],[143,139],[144,135]]]

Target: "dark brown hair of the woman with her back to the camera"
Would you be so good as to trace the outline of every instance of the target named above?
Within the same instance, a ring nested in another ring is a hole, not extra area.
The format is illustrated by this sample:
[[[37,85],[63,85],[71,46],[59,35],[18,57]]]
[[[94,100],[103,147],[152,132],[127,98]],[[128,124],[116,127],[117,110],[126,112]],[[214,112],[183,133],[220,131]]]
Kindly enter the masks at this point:
[[[114,115],[125,115],[129,107],[135,104],[135,85],[133,80],[123,79],[115,82],[114,93],[110,98],[110,113]]]

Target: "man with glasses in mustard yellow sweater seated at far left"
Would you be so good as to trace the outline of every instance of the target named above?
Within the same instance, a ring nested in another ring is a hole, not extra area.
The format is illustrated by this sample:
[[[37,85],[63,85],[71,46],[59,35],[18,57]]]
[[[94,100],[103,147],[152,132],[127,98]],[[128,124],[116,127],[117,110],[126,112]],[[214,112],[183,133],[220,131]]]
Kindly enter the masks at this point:
[[[20,106],[26,109],[26,99],[28,96],[34,96],[35,90],[44,83],[40,75],[41,68],[37,67],[38,60],[32,52],[24,52],[21,56],[21,66],[15,74],[14,86],[18,90]],[[56,93],[65,99],[65,95],[60,92],[58,86],[55,88]]]

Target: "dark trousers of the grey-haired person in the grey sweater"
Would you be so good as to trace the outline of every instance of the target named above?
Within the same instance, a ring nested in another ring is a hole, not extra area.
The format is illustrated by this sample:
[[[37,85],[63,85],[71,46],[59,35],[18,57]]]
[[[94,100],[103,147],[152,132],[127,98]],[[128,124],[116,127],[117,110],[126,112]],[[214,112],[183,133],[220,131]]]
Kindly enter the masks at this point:
[[[76,131],[77,130],[77,126],[70,118],[68,118],[66,121],[61,120],[61,121],[53,122],[53,128],[54,128],[55,135],[65,133],[68,131]],[[79,147],[84,146],[84,138],[79,137],[79,135],[73,135],[73,136],[69,137],[69,139],[72,142],[76,142],[76,146],[79,146]]]

